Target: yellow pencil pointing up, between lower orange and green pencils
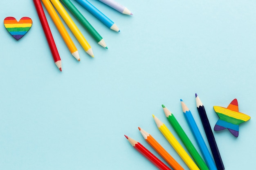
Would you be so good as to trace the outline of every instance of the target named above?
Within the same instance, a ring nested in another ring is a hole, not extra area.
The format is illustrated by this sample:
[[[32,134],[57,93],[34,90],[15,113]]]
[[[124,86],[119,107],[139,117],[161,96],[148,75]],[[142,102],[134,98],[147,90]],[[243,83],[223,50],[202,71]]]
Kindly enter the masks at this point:
[[[173,136],[173,134],[170,132],[170,130],[165,126],[165,124],[160,121],[155,115],[153,115],[155,123],[157,124],[158,129],[164,137],[168,140],[168,142],[171,144],[171,146],[176,150],[176,152],[180,155],[182,160],[186,163],[186,165],[189,167],[190,170],[199,170],[198,166],[195,164],[195,162],[189,157],[188,153],[182,148],[180,143],[177,141],[177,139]]]

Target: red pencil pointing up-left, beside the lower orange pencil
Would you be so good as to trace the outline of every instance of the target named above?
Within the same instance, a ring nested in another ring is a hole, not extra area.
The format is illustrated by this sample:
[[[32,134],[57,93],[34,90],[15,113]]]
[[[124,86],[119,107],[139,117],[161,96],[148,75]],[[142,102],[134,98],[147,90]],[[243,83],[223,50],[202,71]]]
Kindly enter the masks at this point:
[[[153,153],[151,153],[147,148],[141,145],[139,142],[134,139],[124,135],[126,139],[130,142],[130,144],[137,151],[141,153],[144,157],[146,157],[151,163],[153,163],[159,170],[171,170],[168,166],[166,166],[160,159],[158,159]]]

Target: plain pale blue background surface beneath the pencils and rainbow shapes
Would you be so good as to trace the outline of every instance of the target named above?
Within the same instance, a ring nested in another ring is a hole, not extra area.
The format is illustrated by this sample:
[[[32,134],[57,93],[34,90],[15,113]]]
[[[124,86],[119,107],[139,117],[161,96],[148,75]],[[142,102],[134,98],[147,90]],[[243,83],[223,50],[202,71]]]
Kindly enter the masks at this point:
[[[164,104],[199,150],[180,105],[182,98],[203,132],[195,93],[212,128],[218,120],[213,106],[227,107],[238,99],[240,112],[251,116],[240,125],[238,138],[228,130],[213,134],[226,170],[254,169],[255,1],[118,0],[134,14],[128,16],[90,0],[115,20],[119,33],[72,2],[101,34],[108,50],[71,15],[95,55],[85,53],[68,30],[81,57],[76,61],[46,13],[62,72],[54,64],[33,1],[0,2],[1,170],[157,170],[124,137],[159,157],[138,126],[188,170],[152,114],[180,141],[164,115]],[[8,16],[33,20],[19,41],[4,28]]]

